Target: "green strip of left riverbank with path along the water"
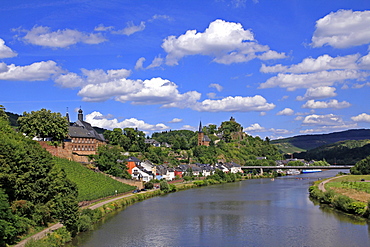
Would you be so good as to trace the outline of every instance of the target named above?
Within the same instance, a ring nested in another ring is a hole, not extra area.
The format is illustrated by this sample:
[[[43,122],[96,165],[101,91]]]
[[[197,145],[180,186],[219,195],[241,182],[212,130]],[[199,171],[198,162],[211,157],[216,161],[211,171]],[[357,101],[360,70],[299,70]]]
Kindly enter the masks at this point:
[[[124,207],[132,205],[136,202],[143,201],[154,196],[165,195],[168,193],[186,190],[190,188],[207,186],[213,184],[222,184],[228,182],[237,182],[241,180],[254,179],[254,178],[272,178],[272,174],[264,175],[251,175],[247,176],[225,176],[223,178],[209,178],[203,180],[194,180],[188,182],[182,182],[171,184],[168,190],[149,190],[143,191],[135,194],[126,194],[108,200],[94,202],[94,205],[85,206],[81,211],[81,218],[83,219],[79,225],[79,230],[87,231],[91,229],[92,224],[97,223],[103,219],[107,214],[112,213],[116,210],[120,210]],[[66,242],[69,242],[72,239],[71,234],[65,230],[63,225],[56,224],[47,229],[44,229],[42,232],[39,232],[21,242],[14,247],[48,247],[48,246],[63,246]]]

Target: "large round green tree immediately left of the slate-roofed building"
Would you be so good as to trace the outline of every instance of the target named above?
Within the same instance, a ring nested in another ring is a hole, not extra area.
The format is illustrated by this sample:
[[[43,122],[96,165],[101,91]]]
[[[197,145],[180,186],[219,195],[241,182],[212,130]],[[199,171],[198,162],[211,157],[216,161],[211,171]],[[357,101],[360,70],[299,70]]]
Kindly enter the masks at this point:
[[[68,134],[68,122],[60,113],[41,109],[24,112],[18,119],[20,131],[27,136],[46,138],[51,137],[55,141],[63,140]]]

